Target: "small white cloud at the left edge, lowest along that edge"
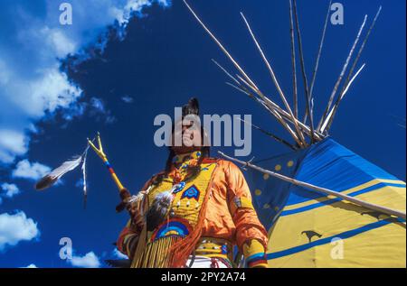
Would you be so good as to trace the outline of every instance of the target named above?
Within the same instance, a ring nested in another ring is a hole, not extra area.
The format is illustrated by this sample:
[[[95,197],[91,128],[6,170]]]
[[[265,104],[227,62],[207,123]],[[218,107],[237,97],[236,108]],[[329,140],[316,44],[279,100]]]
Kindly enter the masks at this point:
[[[14,215],[0,214],[0,251],[4,250],[6,245],[14,246],[39,235],[37,223],[32,218],[26,217],[23,211],[18,211]]]

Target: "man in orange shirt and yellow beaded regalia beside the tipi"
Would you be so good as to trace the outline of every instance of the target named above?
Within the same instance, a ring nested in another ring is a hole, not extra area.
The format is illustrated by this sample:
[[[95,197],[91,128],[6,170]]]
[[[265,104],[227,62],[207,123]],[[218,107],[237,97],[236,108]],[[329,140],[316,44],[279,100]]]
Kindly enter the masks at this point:
[[[248,267],[267,267],[267,232],[231,161],[209,157],[195,98],[172,129],[165,170],[130,199],[118,250],[131,267],[229,268],[237,245]],[[199,121],[200,122],[200,121]],[[180,136],[181,143],[175,143]]]

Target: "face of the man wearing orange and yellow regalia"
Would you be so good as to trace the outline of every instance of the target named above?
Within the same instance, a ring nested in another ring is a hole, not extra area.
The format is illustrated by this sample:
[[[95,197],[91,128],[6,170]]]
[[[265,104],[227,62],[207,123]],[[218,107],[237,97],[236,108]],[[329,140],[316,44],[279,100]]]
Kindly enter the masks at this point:
[[[180,140],[181,146],[176,146],[175,138],[179,138],[178,140]],[[187,117],[185,117],[183,121],[178,121],[175,125],[172,143],[172,148],[175,153],[194,152],[196,150],[200,150],[203,144],[200,123]]]

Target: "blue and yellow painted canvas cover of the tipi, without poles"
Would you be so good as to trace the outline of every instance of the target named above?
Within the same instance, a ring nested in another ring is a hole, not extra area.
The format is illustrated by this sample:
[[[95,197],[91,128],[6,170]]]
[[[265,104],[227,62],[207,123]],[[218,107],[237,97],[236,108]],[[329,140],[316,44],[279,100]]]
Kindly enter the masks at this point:
[[[405,212],[405,182],[334,140],[257,163],[297,180]],[[405,267],[405,221],[249,171],[269,230],[270,267]]]

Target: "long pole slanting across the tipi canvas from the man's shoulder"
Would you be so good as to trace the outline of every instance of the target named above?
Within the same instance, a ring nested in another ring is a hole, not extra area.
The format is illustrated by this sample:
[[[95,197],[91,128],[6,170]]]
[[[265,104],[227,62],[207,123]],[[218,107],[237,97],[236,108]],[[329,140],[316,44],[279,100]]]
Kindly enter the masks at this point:
[[[325,194],[327,194],[329,196],[334,196],[336,198],[343,198],[343,199],[345,199],[345,200],[347,200],[347,201],[349,201],[351,203],[354,203],[355,205],[358,205],[360,207],[373,209],[375,211],[381,212],[383,214],[387,214],[389,216],[400,217],[400,218],[402,218],[404,220],[406,218],[406,214],[403,213],[400,210],[375,205],[375,204],[366,202],[366,201],[364,201],[362,199],[359,199],[359,198],[354,198],[354,197],[347,196],[347,195],[342,194],[340,192],[337,192],[335,190],[326,189],[326,188],[322,188],[322,187],[317,187],[317,186],[315,186],[313,184],[309,184],[307,182],[300,181],[300,180],[295,180],[295,179],[289,178],[287,176],[281,175],[279,173],[276,173],[274,171],[269,171],[269,170],[263,169],[263,168],[261,168],[259,166],[256,166],[256,165],[252,164],[249,161],[241,161],[239,159],[230,157],[230,156],[228,156],[228,155],[226,155],[226,154],[224,154],[223,152],[220,152],[220,151],[219,151],[219,153],[228,160],[241,163],[242,165],[247,166],[247,167],[249,167],[251,169],[260,171],[260,172],[265,173],[265,174],[269,174],[270,176],[273,176],[273,177],[278,178],[280,180],[288,181],[289,183],[292,183],[294,185],[304,187],[306,189],[312,189],[312,190],[315,190],[315,191],[318,191],[318,192],[322,192],[322,193],[325,193]]]

